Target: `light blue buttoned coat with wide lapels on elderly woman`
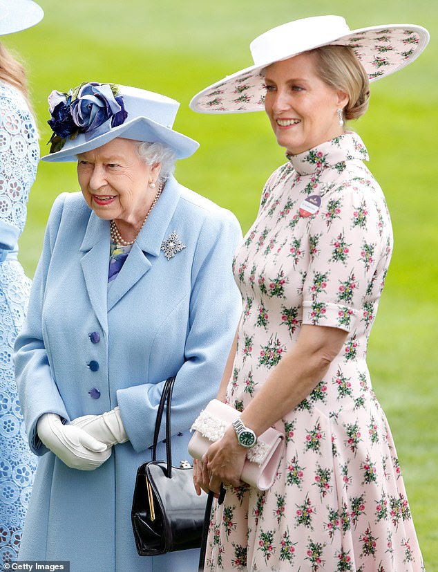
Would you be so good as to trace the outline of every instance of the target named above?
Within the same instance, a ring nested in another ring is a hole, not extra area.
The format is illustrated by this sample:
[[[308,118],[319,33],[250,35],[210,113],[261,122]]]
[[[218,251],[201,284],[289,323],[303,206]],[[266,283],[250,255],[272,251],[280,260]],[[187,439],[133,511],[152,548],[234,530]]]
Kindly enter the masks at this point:
[[[173,231],[185,248],[168,260],[160,248]],[[42,456],[20,560],[69,560],[71,572],[197,570],[197,550],[137,555],[133,486],[151,460],[164,380],[178,373],[173,465],[188,459],[189,427],[216,395],[241,312],[231,271],[240,239],[233,214],[170,178],[108,290],[109,221],[80,193],[57,197],[15,345],[30,448]],[[116,405],[129,441],[97,470],[70,469],[39,441],[46,412],[70,421]]]

